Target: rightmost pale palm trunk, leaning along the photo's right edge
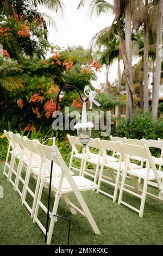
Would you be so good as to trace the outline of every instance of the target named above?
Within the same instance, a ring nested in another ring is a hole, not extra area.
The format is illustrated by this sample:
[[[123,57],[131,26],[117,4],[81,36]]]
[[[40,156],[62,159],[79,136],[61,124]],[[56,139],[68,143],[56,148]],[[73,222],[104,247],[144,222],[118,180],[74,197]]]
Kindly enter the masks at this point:
[[[155,63],[155,78],[154,92],[152,100],[152,120],[155,121],[158,115],[159,105],[159,87],[161,78],[161,44],[162,44],[162,22],[163,22],[163,0],[159,0],[158,6],[158,26],[157,26],[157,42],[156,42],[156,63]]]

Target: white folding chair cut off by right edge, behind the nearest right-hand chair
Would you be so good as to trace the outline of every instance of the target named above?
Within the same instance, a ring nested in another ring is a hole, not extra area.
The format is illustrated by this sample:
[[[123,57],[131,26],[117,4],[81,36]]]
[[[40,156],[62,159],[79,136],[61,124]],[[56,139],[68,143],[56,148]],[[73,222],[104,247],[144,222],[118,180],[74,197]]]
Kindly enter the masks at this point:
[[[159,170],[161,171],[161,166],[163,166],[163,141],[159,140],[156,141],[155,139],[141,139],[142,145],[147,145],[148,148],[155,148],[155,149],[161,149],[160,157],[152,156],[153,162],[156,164],[156,166],[159,166]],[[162,172],[163,173],[163,172]],[[149,185],[158,187],[157,182],[150,181]]]

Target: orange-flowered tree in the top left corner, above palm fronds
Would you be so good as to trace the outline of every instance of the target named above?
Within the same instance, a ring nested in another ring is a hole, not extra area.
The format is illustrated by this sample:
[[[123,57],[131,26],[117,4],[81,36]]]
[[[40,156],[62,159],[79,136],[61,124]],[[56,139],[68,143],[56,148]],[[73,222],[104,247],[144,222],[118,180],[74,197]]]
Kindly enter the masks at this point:
[[[31,1],[1,1],[0,43],[11,58],[20,59],[22,53],[43,54],[49,45],[46,22],[33,9]]]

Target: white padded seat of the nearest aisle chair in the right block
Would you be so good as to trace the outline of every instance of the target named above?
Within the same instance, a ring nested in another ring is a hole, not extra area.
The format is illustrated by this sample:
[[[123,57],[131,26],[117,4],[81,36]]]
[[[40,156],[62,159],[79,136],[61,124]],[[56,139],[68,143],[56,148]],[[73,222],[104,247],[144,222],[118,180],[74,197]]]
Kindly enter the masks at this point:
[[[139,177],[141,179],[145,179],[146,168],[128,170],[127,173],[129,173],[131,175],[134,175],[136,177]],[[160,179],[162,179],[163,178],[163,172],[158,170],[158,174],[159,174]],[[149,178],[148,178],[148,180],[155,180],[155,175],[154,175],[152,169],[149,170]]]

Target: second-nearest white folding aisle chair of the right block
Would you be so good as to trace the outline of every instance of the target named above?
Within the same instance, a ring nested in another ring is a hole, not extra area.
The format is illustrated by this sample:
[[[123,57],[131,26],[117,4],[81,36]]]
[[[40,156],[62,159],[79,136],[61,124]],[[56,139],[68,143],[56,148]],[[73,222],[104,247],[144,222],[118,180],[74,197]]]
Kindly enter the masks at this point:
[[[117,191],[118,191],[118,187],[119,187],[119,183],[120,183],[120,173],[123,172],[123,170],[125,168],[125,163],[122,162],[121,154],[120,154],[120,158],[118,159],[118,162],[110,161],[108,155],[106,154],[106,152],[108,152],[108,151],[120,153],[120,147],[116,142],[98,140],[98,143],[99,143],[99,147],[102,150],[103,159],[102,159],[101,170],[100,170],[99,179],[98,179],[99,187],[97,188],[97,193],[101,192],[102,194],[105,194],[105,196],[112,198],[113,202],[115,203],[116,198],[117,198]],[[130,163],[130,165],[132,168],[139,168],[139,166],[137,164]],[[107,168],[111,177],[103,175],[104,167]],[[112,194],[106,193],[105,191],[102,190],[102,188],[101,188],[102,182],[114,187],[114,195],[113,196],[112,196]]]

